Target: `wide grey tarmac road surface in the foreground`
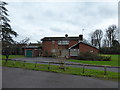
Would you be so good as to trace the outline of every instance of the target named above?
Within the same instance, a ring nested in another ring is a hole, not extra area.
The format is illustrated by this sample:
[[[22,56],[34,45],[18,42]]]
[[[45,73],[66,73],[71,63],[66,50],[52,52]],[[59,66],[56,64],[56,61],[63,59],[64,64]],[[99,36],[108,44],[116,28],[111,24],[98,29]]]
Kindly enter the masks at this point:
[[[91,77],[3,67],[3,88],[118,88]]]

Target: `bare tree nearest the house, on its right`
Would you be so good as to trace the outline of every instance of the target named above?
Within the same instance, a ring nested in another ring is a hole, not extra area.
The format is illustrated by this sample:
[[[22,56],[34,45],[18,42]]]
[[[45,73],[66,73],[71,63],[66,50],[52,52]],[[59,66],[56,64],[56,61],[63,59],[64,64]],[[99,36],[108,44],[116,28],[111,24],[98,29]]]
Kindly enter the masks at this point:
[[[101,29],[96,29],[91,36],[92,45],[98,46],[99,48],[101,48],[102,37],[103,37],[102,30]]]

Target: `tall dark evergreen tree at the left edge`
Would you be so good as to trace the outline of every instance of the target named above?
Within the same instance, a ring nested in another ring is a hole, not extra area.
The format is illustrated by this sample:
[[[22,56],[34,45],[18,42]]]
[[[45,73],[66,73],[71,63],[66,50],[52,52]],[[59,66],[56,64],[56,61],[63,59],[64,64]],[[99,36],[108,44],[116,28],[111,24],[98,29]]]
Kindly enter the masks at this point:
[[[14,43],[13,36],[18,34],[12,30],[8,19],[8,10],[5,5],[8,3],[0,1],[0,42],[2,42],[2,54],[5,54],[6,57],[10,54],[10,47]]]

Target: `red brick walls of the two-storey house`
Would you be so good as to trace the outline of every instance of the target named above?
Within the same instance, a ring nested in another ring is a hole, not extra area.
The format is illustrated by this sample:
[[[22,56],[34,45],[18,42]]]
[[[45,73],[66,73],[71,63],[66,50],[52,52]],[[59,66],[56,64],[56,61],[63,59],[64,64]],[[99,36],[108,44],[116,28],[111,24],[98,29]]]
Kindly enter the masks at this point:
[[[58,45],[58,41],[43,41],[42,44],[42,56],[51,56],[52,55],[52,50],[55,49],[56,50],[56,54],[59,55],[59,50],[60,49],[68,49],[69,47],[71,47],[72,45],[78,43],[78,41],[74,41],[74,40],[70,40],[69,41],[69,45]],[[79,50],[80,52],[92,52],[93,53],[98,53],[98,49],[80,43],[79,44]]]

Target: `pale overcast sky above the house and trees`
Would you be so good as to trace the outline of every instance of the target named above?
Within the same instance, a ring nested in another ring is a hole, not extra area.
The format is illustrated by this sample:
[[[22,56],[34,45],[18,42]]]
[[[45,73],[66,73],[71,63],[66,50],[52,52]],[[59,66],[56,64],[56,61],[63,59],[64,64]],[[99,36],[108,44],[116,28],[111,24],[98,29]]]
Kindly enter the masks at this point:
[[[8,0],[5,0],[8,1]],[[118,26],[118,2],[8,2],[10,25],[20,41],[26,37],[36,42],[43,37],[78,36],[89,40],[96,29]],[[82,29],[84,31],[82,32]]]

